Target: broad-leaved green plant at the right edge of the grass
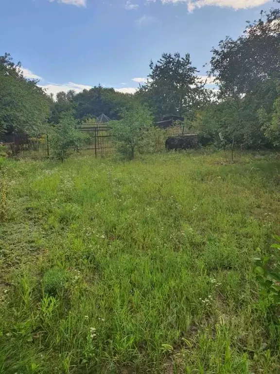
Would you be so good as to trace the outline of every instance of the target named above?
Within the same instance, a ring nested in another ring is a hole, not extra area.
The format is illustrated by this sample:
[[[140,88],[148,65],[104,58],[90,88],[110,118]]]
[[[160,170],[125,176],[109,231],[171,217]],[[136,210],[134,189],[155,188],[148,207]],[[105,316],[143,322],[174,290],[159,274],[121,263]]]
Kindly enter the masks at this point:
[[[257,280],[261,287],[261,295],[268,306],[280,305],[280,237],[274,236],[277,241],[272,244],[273,253],[262,259],[255,259]]]

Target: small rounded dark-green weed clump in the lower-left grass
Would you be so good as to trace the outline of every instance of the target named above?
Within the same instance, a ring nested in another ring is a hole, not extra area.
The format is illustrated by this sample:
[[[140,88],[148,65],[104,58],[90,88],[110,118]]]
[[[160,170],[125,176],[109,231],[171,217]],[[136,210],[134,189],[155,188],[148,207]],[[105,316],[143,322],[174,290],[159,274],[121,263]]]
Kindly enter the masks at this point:
[[[66,287],[66,282],[67,282],[67,275],[65,273],[65,270],[60,268],[60,267],[53,267],[49,270],[46,271],[46,273],[43,276],[42,280],[42,285],[43,285],[43,290],[45,294],[49,295],[57,295],[60,294],[64,291]],[[47,303],[47,305],[46,305]],[[48,302],[45,300],[45,313],[50,307],[53,308],[53,299],[48,300]]]

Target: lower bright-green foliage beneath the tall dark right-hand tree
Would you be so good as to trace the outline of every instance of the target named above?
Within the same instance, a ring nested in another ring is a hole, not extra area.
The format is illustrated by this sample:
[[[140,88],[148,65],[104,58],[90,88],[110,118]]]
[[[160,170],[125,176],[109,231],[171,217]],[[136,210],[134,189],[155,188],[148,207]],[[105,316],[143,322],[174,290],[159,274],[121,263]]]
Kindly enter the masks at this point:
[[[277,81],[267,80],[244,97],[228,95],[213,101],[197,111],[192,127],[222,148],[230,148],[233,140],[235,146],[243,149],[272,148],[272,143],[277,146],[277,87]]]

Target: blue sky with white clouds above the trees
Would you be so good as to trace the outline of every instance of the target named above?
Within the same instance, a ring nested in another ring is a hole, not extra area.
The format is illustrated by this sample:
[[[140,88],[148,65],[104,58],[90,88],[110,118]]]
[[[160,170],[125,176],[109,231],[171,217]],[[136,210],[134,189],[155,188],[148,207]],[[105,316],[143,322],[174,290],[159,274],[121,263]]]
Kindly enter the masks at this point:
[[[0,0],[0,55],[48,93],[101,84],[134,93],[163,52],[190,53],[204,76],[211,48],[238,37],[267,0]]]

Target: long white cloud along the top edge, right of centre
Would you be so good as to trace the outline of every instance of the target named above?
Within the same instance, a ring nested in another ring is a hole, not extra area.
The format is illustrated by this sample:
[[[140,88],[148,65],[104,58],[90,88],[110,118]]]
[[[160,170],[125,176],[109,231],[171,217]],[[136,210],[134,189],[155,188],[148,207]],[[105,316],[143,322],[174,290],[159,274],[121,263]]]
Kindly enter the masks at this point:
[[[188,6],[189,12],[192,12],[195,8],[202,8],[203,6],[213,5],[220,7],[228,7],[237,9],[253,8],[269,2],[270,0],[161,0],[163,4],[183,3],[185,2]]]

